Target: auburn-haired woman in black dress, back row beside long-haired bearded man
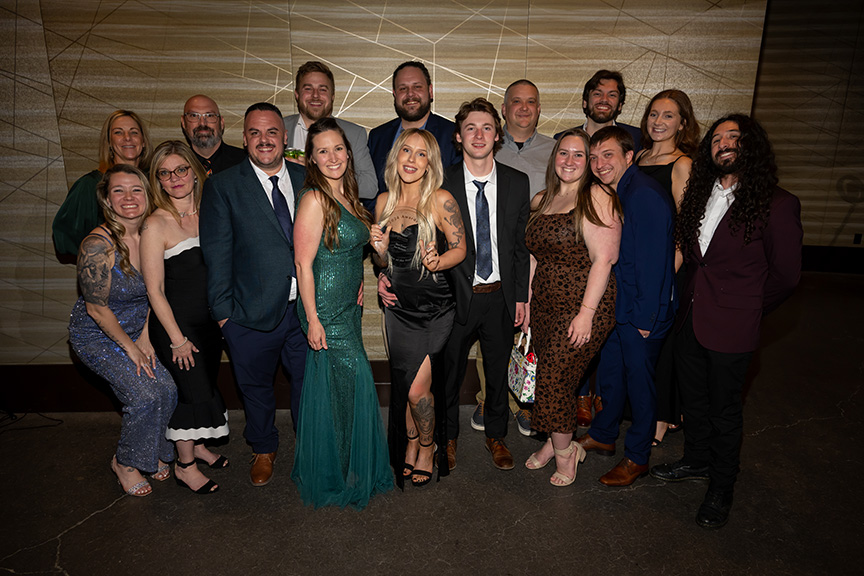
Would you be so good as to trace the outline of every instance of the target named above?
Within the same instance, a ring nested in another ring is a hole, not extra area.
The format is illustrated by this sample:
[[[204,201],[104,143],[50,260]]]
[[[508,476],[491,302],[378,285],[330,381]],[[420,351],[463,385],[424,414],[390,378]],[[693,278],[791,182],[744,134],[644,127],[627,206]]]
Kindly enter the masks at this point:
[[[699,124],[693,114],[690,98],[681,90],[663,90],[658,93],[642,116],[642,151],[636,164],[669,193],[675,207],[681,206],[684,188],[690,178],[690,154],[699,145]],[[675,254],[676,279],[680,287],[684,279],[680,252]],[[678,291],[680,294],[680,290]],[[654,380],[657,386],[657,429],[653,446],[659,445],[668,430],[677,430],[681,422],[681,409],[672,362],[670,331],[657,360]]]

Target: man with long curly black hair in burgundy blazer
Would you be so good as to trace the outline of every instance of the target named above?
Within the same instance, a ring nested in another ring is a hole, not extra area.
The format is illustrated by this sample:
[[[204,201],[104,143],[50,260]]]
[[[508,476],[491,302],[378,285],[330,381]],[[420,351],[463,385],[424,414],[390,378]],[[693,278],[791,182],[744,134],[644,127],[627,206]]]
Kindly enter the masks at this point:
[[[675,234],[688,264],[675,322],[684,456],[651,469],[667,482],[709,481],[703,528],[729,519],[747,368],[762,315],[798,284],[802,237],[801,203],[777,186],[768,135],[743,114],[717,120],[693,159]]]

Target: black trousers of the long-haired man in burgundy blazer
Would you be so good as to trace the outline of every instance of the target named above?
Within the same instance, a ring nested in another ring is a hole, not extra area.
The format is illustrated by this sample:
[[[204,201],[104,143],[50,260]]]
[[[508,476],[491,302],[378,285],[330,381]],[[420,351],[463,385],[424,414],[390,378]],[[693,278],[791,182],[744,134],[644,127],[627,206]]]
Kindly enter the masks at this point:
[[[708,466],[709,488],[731,492],[741,460],[741,391],[753,352],[729,354],[702,346],[692,312],[675,338],[675,365],[684,415],[684,462]]]

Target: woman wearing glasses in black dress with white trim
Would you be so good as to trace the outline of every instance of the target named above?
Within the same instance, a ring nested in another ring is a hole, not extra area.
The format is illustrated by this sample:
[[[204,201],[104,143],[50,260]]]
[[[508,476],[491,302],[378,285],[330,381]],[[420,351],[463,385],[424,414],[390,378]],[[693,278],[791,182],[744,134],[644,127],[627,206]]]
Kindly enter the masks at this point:
[[[207,305],[207,269],[198,244],[198,206],[206,175],[179,140],[160,144],[150,169],[153,212],[141,228],[141,266],[153,314],[150,339],[177,384],[177,409],[166,436],[177,446],[175,479],[196,494],[218,490],[196,462],[225,468],[204,441],[228,435],[216,387],[222,334]]]

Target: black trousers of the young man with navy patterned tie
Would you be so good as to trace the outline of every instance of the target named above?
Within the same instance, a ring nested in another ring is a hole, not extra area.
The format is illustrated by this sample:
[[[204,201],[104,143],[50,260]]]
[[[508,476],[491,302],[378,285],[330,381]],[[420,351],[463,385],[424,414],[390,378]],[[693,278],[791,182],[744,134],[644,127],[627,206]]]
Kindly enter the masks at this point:
[[[486,436],[503,438],[507,435],[510,415],[507,367],[513,349],[513,333],[513,319],[507,311],[502,290],[474,294],[465,324],[453,322],[453,331],[444,347],[448,439],[459,436],[459,390],[465,380],[468,353],[477,340],[480,341],[486,373],[486,401],[483,404]]]

